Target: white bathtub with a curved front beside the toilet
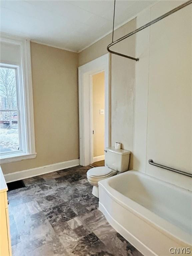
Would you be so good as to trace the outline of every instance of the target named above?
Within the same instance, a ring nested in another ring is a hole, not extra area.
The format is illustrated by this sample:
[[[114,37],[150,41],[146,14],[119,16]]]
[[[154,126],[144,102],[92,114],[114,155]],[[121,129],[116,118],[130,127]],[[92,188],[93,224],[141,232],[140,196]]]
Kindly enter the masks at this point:
[[[99,210],[145,256],[192,255],[191,191],[128,171],[99,181]]]

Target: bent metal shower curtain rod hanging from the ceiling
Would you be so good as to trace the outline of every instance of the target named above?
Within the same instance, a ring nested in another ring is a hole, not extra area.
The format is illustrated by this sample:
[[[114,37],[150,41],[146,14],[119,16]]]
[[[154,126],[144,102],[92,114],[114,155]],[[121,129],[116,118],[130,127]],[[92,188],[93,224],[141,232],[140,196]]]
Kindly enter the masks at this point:
[[[113,53],[113,54],[116,54],[116,55],[119,55],[119,56],[122,56],[122,57],[125,57],[125,58],[128,58],[128,59],[132,59],[132,60],[139,61],[139,58],[134,58],[134,57],[131,57],[131,56],[127,56],[127,55],[122,54],[122,53],[119,53],[119,52],[114,52],[114,51],[111,51],[109,48],[110,48],[111,46],[113,46],[113,45],[115,45],[115,44],[121,42],[121,41],[124,40],[125,38],[128,38],[128,37],[130,37],[130,36],[136,34],[137,32],[143,30],[144,28],[147,28],[147,27],[151,26],[152,24],[154,24],[154,23],[156,23],[156,22],[158,22],[158,21],[164,19],[165,17],[171,15],[172,13],[177,12],[178,10],[180,10],[180,9],[182,9],[182,8],[184,8],[184,7],[186,7],[186,6],[188,6],[189,4],[192,4],[192,0],[187,1],[187,2],[185,2],[185,3],[183,3],[183,4],[179,5],[179,6],[177,6],[177,7],[174,8],[173,10],[171,10],[171,11],[169,11],[169,12],[167,12],[167,13],[161,15],[161,16],[159,16],[158,18],[156,18],[156,19],[154,19],[154,20],[148,22],[147,24],[141,26],[140,28],[137,28],[136,30],[130,32],[129,34],[120,37],[120,38],[117,39],[116,41],[113,41],[113,37],[112,37],[112,43],[107,46],[108,52]],[[113,34],[114,34],[114,20],[115,20],[115,3],[114,3],[114,15],[113,15]]]

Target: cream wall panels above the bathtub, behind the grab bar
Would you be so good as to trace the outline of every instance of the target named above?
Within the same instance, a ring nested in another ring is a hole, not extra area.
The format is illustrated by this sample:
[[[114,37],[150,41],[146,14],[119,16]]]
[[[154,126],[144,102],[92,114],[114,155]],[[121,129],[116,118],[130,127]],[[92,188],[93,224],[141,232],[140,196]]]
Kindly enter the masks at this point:
[[[183,1],[160,1],[137,17],[137,27]],[[191,178],[149,165],[151,158],[192,173],[192,6],[139,32],[133,168],[192,189]]]

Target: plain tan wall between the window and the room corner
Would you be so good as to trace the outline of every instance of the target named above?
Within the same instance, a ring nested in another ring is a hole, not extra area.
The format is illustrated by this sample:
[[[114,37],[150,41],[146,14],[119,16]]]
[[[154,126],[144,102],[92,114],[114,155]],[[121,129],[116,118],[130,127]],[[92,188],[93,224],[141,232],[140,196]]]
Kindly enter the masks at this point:
[[[79,158],[78,54],[31,43],[31,61],[37,157],[4,174]]]

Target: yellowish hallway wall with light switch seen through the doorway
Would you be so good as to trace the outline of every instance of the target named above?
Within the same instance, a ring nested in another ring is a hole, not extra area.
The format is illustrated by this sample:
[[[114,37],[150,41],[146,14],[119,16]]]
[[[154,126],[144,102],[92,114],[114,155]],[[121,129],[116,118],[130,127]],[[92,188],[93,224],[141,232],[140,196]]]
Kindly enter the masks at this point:
[[[93,156],[104,155],[105,115],[105,72],[93,75]]]

